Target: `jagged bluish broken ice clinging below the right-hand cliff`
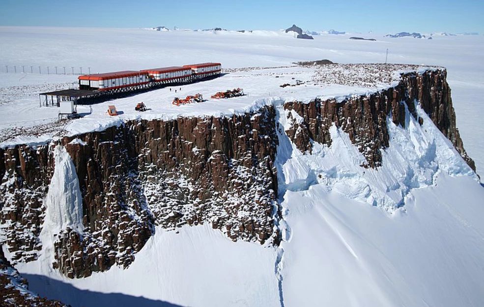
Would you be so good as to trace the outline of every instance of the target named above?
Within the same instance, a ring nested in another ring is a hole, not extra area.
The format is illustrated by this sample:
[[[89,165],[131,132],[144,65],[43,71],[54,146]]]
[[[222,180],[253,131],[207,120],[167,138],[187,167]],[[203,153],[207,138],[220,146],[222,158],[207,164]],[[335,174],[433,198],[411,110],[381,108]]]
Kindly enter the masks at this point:
[[[479,180],[418,102],[412,103],[424,124],[420,126],[408,108],[404,128],[387,117],[390,144],[380,150],[382,166],[377,169],[360,166],[365,157],[348,134],[335,124],[329,129],[330,147],[313,142],[312,153],[301,153],[284,133],[292,125],[287,116],[295,121],[300,121],[300,116],[277,108],[278,122],[283,127],[279,131],[276,157],[280,185],[285,190],[304,191],[314,184],[322,184],[327,191],[394,213],[405,204],[412,189],[433,185],[439,172]]]

